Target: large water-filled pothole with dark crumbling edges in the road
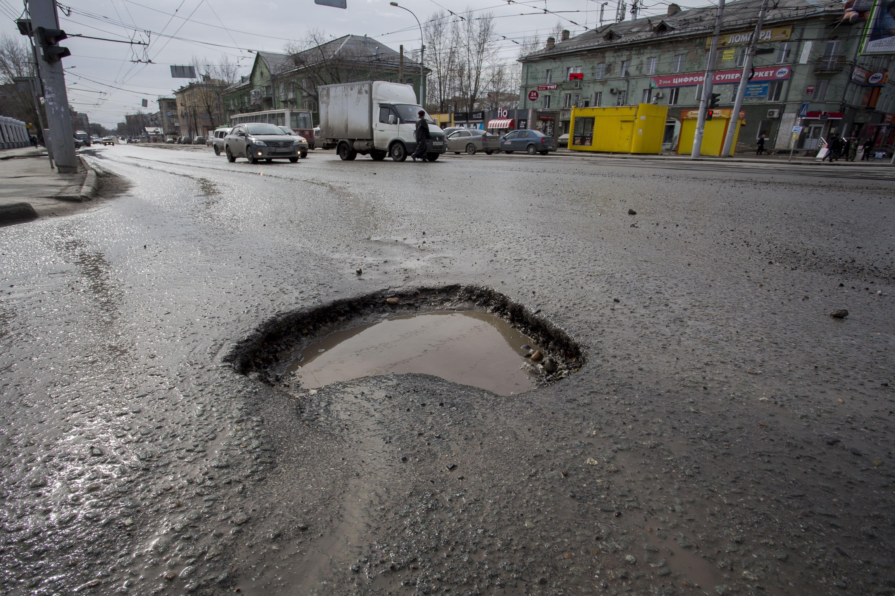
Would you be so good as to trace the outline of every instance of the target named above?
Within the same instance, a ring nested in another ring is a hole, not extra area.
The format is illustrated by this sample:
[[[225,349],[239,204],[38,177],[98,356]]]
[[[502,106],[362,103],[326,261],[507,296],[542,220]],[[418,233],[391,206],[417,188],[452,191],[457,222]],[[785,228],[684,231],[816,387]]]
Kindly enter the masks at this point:
[[[512,395],[584,363],[557,325],[490,288],[377,292],[298,310],[262,324],[229,359],[285,389],[378,374],[422,373]]]

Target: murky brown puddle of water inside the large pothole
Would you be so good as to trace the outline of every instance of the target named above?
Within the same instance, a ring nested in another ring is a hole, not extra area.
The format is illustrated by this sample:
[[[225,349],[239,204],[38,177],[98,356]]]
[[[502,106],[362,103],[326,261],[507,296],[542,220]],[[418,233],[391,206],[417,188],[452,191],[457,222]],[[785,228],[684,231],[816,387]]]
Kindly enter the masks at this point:
[[[331,333],[304,348],[286,373],[305,389],[374,374],[423,373],[513,395],[537,380],[523,346],[539,349],[497,316],[436,311]]]

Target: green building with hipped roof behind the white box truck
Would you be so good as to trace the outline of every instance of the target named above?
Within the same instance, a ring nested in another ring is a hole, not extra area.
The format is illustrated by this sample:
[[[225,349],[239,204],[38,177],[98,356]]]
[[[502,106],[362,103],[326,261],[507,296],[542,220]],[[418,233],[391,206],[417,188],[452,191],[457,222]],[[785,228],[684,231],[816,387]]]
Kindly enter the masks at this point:
[[[283,108],[311,110],[318,120],[320,85],[358,80],[398,82],[401,56],[374,38],[346,35],[296,54],[258,52],[251,73],[222,94],[227,117]],[[423,71],[423,85],[428,69]],[[403,82],[419,97],[420,63],[405,59]]]

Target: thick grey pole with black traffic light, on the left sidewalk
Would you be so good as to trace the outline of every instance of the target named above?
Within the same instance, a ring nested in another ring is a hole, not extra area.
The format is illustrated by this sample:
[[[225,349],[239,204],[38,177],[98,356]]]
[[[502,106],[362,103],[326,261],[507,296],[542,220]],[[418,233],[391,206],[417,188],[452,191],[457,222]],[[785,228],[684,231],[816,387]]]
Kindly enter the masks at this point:
[[[68,94],[65,92],[65,73],[62,60],[68,50],[56,46],[64,39],[59,30],[55,0],[28,0],[31,26],[37,37],[38,66],[40,79],[44,85],[44,102],[47,108],[47,126],[50,138],[47,145],[53,145],[56,172],[78,172],[78,158],[74,155],[72,135],[72,114],[68,110]]]

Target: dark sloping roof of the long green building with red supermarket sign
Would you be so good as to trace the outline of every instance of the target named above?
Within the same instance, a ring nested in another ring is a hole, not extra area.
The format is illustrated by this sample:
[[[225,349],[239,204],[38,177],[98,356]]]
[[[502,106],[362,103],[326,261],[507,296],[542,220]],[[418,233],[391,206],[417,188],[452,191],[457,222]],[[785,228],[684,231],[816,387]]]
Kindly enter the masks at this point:
[[[721,30],[741,28],[751,31],[761,9],[762,0],[737,0],[724,7]],[[540,60],[554,55],[576,53],[601,47],[644,43],[668,38],[687,38],[695,35],[711,35],[715,21],[715,6],[702,6],[674,14],[659,14],[634,21],[612,22],[597,29],[585,31],[574,38],[557,41],[550,49],[541,49],[525,55],[522,62]],[[780,0],[769,5],[764,17],[765,25],[797,21],[812,16],[841,16],[842,4],[837,0]],[[611,31],[612,35],[609,35]]]

